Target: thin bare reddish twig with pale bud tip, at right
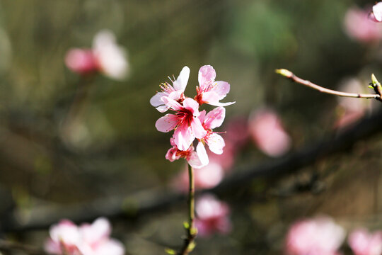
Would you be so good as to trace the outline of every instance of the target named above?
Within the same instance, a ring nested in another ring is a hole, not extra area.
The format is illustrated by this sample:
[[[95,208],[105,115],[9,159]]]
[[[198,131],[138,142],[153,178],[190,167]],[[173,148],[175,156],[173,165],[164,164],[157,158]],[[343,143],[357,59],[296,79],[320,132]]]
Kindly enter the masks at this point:
[[[305,86],[308,86],[312,89],[316,89],[325,94],[352,97],[352,98],[367,98],[367,99],[374,98],[381,101],[381,95],[378,95],[378,94],[359,94],[359,93],[347,93],[342,91],[335,91],[332,89],[326,89],[322,86],[318,86],[317,84],[313,84],[311,81],[301,79],[300,77],[297,77],[294,73],[290,72],[287,69],[276,69],[276,72],[277,74],[281,74],[283,77],[287,77],[288,79],[291,79],[292,81],[298,84],[303,84]]]

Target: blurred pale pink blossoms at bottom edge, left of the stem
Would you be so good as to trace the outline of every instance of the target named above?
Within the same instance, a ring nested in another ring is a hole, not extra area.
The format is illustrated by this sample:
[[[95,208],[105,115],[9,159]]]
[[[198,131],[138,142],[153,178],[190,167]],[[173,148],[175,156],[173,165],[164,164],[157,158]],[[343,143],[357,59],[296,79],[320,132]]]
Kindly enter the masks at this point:
[[[110,222],[98,218],[93,224],[77,227],[69,220],[62,220],[50,227],[50,239],[45,242],[49,254],[68,255],[123,255],[123,245],[110,238]]]

